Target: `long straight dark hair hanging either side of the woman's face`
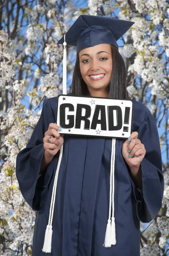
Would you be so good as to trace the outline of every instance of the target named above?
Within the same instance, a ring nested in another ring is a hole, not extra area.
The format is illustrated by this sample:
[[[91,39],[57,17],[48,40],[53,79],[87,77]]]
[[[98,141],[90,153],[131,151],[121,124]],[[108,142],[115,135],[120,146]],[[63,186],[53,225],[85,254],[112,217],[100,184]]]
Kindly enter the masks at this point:
[[[109,86],[109,98],[111,99],[130,99],[127,92],[126,67],[124,59],[117,47],[111,44],[112,52],[112,74]],[[81,78],[79,67],[79,55],[76,55],[76,63],[73,71],[73,79],[71,85],[71,96],[90,96],[85,81]]]

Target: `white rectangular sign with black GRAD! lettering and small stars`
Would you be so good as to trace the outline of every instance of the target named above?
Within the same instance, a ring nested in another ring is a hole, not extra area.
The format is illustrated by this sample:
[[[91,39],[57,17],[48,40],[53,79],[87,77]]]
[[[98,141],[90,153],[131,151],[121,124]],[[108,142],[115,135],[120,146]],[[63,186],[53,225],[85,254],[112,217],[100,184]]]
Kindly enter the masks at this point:
[[[130,99],[61,94],[56,124],[61,134],[127,139],[132,133],[133,105]]]

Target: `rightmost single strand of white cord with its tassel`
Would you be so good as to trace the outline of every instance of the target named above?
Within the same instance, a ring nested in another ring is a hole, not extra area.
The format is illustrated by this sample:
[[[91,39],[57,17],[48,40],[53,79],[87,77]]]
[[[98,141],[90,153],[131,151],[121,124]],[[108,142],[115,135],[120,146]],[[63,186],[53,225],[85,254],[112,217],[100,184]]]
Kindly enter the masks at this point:
[[[111,222],[111,244],[115,245],[116,244],[116,239],[115,239],[115,217],[114,217],[114,171],[115,171],[115,138],[114,138],[114,143],[113,143],[113,174],[112,174],[112,184],[113,184],[113,189],[112,189],[112,222]]]

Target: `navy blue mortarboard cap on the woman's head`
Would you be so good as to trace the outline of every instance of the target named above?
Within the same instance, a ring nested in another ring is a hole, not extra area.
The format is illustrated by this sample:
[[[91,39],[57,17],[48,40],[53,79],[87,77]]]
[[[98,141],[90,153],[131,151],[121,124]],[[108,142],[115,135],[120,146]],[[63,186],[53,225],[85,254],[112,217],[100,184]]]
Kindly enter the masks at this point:
[[[80,15],[65,34],[68,45],[77,46],[77,52],[97,44],[113,44],[118,41],[135,22],[93,15]],[[62,37],[57,44],[63,44]]]

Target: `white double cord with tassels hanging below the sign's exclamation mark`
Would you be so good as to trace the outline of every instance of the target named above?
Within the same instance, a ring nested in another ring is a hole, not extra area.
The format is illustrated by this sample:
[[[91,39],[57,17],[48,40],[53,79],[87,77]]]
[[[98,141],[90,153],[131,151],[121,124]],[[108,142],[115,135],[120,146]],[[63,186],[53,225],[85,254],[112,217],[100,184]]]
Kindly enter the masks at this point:
[[[115,161],[115,138],[112,139],[112,151],[111,151],[111,164],[110,164],[110,203],[109,203],[109,218],[107,221],[107,227],[106,227],[106,234],[105,234],[105,240],[104,240],[104,247],[111,247],[112,242],[114,243],[114,239],[112,237],[115,237],[115,222],[114,217],[112,216],[112,223],[111,223],[111,205],[113,204],[114,209],[114,196],[113,196],[113,202],[112,202],[112,191],[114,194],[114,183],[113,183],[113,190],[112,190],[112,181],[114,180],[114,161]]]

